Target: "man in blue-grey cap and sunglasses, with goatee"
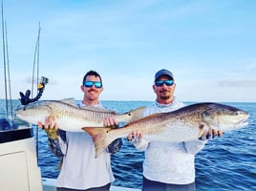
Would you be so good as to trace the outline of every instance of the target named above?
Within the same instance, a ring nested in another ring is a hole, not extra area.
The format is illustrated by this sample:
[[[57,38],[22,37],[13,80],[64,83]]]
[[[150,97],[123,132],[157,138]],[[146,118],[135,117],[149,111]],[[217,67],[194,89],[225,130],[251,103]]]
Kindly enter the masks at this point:
[[[156,101],[144,112],[144,116],[171,112],[185,106],[175,96],[176,83],[173,74],[162,69],[155,74],[153,90]],[[207,138],[221,136],[222,132],[209,130],[204,140],[183,142],[147,142],[140,132],[127,138],[136,148],[145,151],[142,191],[195,191],[195,155],[203,149]]]

